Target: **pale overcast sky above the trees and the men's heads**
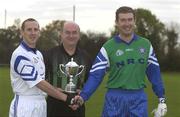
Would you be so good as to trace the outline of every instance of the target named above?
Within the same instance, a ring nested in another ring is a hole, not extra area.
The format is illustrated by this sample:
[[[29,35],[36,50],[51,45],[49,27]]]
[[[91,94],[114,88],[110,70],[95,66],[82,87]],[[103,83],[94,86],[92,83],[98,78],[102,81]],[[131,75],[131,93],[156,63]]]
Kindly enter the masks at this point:
[[[36,18],[41,27],[53,20],[73,20],[73,5],[76,6],[75,21],[82,31],[109,32],[114,25],[115,11],[120,6],[145,8],[163,23],[180,24],[180,0],[0,0],[0,28],[14,19]]]

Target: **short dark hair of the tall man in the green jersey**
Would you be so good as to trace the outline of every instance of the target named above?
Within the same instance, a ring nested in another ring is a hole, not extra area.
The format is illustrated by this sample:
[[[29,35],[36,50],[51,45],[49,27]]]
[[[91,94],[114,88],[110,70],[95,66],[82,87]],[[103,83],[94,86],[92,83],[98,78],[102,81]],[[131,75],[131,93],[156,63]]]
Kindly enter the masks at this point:
[[[131,7],[128,7],[128,6],[119,7],[116,10],[116,21],[118,20],[119,13],[132,13],[135,19],[135,11]]]

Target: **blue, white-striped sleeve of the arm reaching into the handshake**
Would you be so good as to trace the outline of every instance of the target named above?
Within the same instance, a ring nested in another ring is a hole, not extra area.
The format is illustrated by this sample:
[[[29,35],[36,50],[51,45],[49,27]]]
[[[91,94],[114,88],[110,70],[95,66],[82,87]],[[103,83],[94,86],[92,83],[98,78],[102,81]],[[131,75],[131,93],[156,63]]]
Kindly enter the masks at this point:
[[[106,70],[108,68],[107,54],[104,49],[98,53],[89,73],[88,80],[80,93],[80,96],[86,101],[96,91],[101,84]]]

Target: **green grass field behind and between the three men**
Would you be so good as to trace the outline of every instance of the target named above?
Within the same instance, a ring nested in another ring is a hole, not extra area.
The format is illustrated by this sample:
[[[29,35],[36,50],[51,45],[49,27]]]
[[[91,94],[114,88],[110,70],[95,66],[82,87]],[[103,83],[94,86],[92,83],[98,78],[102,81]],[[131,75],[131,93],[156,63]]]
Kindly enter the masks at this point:
[[[166,88],[168,113],[166,117],[180,117],[180,73],[163,73],[163,81]],[[100,117],[104,94],[106,92],[105,82],[100,85],[98,90],[86,103],[86,117]],[[151,85],[147,82],[145,89],[148,95],[149,117],[152,117],[151,111],[157,106],[157,98],[151,90]],[[8,117],[9,105],[13,98],[10,86],[9,68],[0,68],[0,117]]]

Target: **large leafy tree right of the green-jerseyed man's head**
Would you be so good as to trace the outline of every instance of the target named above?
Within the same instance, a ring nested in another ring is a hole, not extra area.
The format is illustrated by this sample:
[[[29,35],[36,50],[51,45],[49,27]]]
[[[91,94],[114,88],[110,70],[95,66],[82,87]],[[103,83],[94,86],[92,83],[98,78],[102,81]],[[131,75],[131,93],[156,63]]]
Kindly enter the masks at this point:
[[[157,58],[161,61],[164,56],[163,41],[165,41],[165,26],[149,10],[136,9],[136,32],[149,39],[156,52]]]

